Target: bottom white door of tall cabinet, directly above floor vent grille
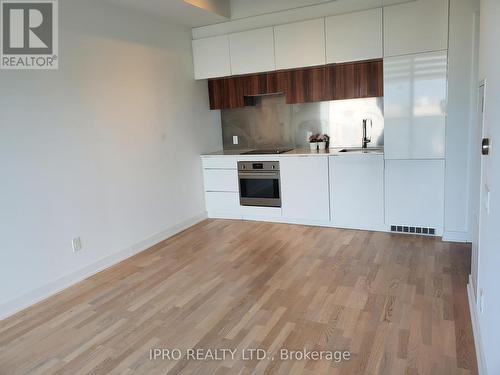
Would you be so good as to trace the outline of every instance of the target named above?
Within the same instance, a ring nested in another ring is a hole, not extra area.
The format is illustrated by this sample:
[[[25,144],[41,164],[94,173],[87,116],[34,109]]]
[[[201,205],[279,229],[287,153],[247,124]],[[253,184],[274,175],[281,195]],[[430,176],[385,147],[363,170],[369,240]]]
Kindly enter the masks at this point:
[[[386,161],[386,223],[443,227],[444,160]]]

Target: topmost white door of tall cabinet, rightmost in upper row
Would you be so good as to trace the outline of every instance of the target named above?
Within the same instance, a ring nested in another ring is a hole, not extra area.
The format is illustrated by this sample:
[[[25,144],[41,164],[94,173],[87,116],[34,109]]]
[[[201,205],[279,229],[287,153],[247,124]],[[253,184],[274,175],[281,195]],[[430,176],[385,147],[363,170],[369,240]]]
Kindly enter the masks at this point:
[[[384,56],[448,48],[448,0],[418,0],[384,8]]]

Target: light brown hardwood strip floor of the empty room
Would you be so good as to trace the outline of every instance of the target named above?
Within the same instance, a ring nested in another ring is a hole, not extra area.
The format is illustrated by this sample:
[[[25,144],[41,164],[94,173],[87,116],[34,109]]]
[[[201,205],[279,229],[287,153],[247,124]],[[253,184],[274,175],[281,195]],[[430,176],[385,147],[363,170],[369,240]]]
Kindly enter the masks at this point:
[[[469,259],[432,238],[207,220],[1,321],[0,373],[476,374]],[[150,360],[152,348],[237,352]],[[243,360],[249,348],[277,354]]]

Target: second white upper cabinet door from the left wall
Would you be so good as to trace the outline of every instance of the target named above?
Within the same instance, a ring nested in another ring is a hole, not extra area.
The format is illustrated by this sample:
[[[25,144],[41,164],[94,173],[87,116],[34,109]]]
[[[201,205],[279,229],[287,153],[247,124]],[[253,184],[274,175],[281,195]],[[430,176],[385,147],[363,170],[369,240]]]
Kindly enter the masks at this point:
[[[232,74],[267,72],[276,69],[272,27],[229,35]]]

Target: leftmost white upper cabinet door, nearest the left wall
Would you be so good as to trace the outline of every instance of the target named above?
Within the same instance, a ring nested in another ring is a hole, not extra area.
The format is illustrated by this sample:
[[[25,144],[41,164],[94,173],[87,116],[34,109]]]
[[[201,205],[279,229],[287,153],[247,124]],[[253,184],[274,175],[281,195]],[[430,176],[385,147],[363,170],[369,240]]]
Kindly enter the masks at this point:
[[[193,40],[194,78],[206,79],[231,75],[229,36]]]

